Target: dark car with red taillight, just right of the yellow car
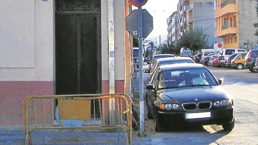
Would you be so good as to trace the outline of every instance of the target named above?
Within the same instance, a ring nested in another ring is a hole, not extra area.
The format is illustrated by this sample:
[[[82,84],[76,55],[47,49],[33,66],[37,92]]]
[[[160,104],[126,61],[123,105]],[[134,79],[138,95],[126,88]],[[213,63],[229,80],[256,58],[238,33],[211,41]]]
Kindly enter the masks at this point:
[[[258,69],[255,67],[255,60],[258,57],[258,50],[249,50],[245,56],[245,67],[251,72],[257,73]]]

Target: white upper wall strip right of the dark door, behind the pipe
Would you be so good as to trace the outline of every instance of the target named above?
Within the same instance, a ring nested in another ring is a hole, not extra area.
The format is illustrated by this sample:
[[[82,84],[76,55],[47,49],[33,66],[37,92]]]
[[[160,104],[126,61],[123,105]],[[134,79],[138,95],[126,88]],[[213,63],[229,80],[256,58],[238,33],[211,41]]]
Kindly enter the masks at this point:
[[[124,0],[114,0],[115,79],[125,80]],[[101,0],[102,80],[108,80],[108,1]]]

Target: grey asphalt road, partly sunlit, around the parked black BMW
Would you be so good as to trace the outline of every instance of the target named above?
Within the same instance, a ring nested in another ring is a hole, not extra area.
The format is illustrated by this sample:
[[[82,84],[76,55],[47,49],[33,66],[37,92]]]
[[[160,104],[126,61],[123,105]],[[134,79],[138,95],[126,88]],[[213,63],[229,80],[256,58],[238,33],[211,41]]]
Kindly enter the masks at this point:
[[[145,68],[147,66],[144,66]],[[223,88],[234,96],[235,128],[225,132],[221,126],[181,127],[157,133],[153,120],[145,116],[146,144],[191,144],[191,145],[257,145],[258,144],[258,74],[248,69],[235,70],[209,67],[220,79]],[[144,78],[147,74],[144,74]],[[134,81],[134,90],[139,90],[139,74]]]

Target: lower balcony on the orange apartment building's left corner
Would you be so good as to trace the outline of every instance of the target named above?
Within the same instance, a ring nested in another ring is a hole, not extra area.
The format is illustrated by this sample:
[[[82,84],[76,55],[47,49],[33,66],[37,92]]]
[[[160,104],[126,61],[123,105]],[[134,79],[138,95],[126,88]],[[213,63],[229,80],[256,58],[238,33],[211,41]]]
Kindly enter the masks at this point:
[[[237,27],[224,25],[220,29],[217,29],[216,37],[226,37],[227,35],[237,34]]]

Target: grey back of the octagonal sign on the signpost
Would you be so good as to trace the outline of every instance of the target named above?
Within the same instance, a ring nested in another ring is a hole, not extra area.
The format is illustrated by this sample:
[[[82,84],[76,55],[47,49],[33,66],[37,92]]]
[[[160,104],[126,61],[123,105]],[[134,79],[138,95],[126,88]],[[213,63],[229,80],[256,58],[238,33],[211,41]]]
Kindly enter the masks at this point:
[[[126,18],[126,30],[138,38],[138,10],[133,10]],[[146,9],[142,9],[142,38],[146,38],[153,30],[153,18]]]

